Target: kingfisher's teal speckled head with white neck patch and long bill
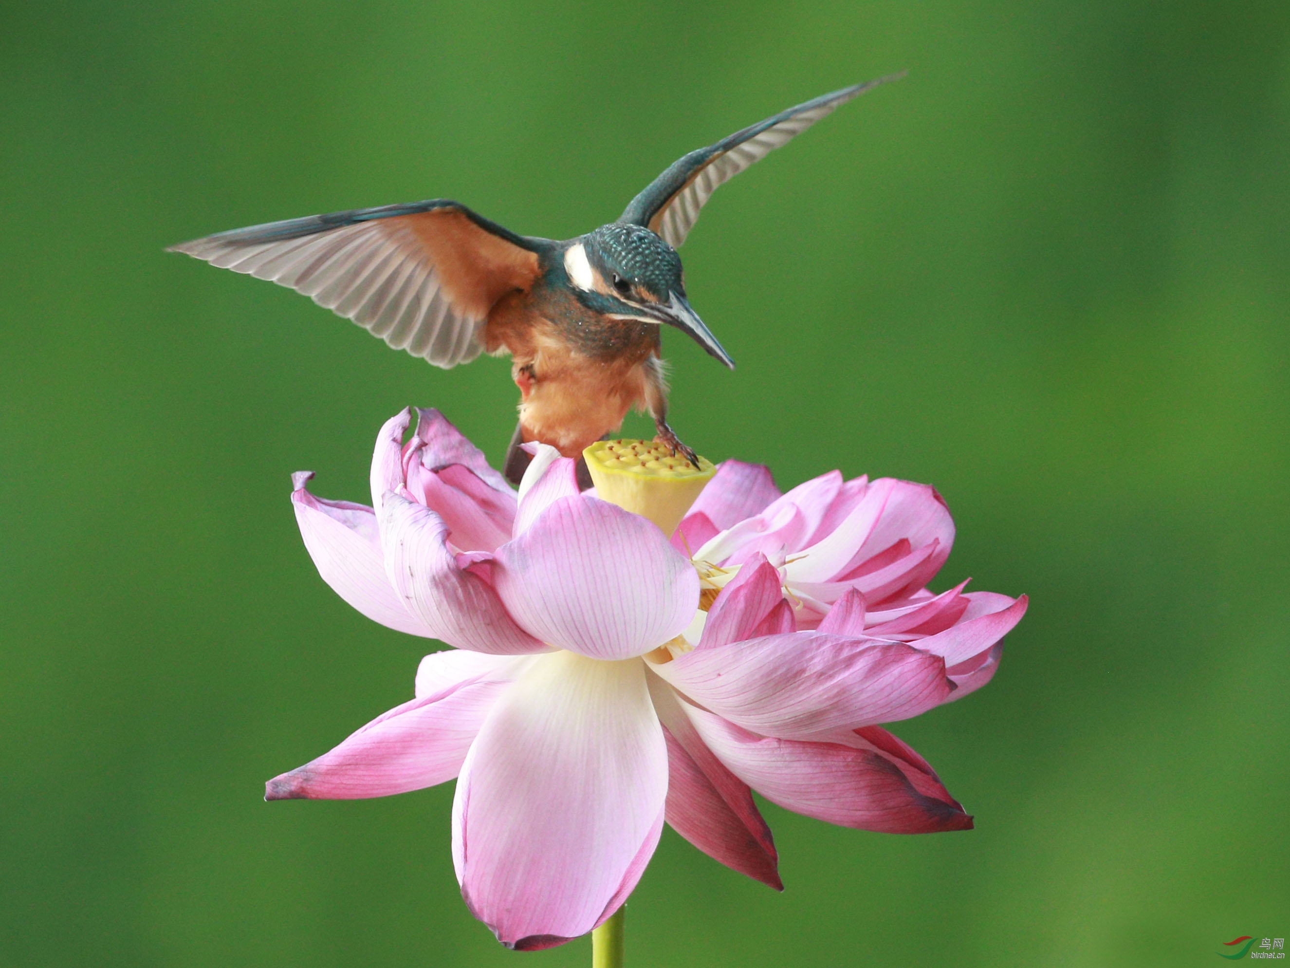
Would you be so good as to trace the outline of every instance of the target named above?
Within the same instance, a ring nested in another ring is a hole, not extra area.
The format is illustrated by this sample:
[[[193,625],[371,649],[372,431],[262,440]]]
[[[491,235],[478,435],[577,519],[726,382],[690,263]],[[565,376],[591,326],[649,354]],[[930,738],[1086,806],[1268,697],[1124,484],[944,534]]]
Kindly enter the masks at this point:
[[[564,268],[587,308],[610,319],[667,323],[734,369],[734,360],[685,301],[681,257],[649,228],[601,226],[565,249]]]

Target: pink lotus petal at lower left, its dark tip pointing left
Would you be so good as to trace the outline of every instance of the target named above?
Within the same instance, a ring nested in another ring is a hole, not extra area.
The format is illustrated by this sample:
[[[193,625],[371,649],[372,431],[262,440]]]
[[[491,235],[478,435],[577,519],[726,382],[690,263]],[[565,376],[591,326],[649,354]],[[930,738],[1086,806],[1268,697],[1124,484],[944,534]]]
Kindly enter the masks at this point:
[[[264,799],[356,800],[452,780],[506,687],[467,680],[396,706],[330,752],[270,780]]]

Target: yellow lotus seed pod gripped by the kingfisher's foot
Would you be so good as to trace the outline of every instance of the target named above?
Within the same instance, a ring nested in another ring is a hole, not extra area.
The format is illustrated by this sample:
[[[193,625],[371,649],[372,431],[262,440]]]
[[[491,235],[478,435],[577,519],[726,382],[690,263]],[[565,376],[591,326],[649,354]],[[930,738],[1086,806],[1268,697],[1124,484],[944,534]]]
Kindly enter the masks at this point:
[[[695,469],[655,440],[597,440],[582,456],[602,501],[649,518],[668,537],[717,470],[703,457]]]

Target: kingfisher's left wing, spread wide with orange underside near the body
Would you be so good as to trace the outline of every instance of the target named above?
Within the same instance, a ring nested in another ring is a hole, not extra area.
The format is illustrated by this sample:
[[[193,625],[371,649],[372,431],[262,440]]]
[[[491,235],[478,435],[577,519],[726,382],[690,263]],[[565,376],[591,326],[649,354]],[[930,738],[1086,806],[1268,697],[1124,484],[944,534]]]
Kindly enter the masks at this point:
[[[489,310],[531,285],[543,241],[433,199],[235,228],[169,252],[290,287],[448,368],[479,356]]]

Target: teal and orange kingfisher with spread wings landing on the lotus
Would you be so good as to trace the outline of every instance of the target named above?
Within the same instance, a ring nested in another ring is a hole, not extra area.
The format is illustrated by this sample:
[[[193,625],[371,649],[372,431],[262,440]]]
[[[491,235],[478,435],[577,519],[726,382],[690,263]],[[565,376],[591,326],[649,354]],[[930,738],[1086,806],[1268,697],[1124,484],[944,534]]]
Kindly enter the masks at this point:
[[[504,467],[516,484],[529,461],[522,444],[578,458],[632,408],[649,412],[673,456],[698,466],[667,422],[662,328],[680,329],[730,369],[734,360],[686,301],[676,250],[719,186],[899,76],[835,90],[689,152],[618,221],[577,239],[516,235],[461,203],[430,199],[235,228],[168,252],[295,289],[436,367],[510,354],[520,421]]]

